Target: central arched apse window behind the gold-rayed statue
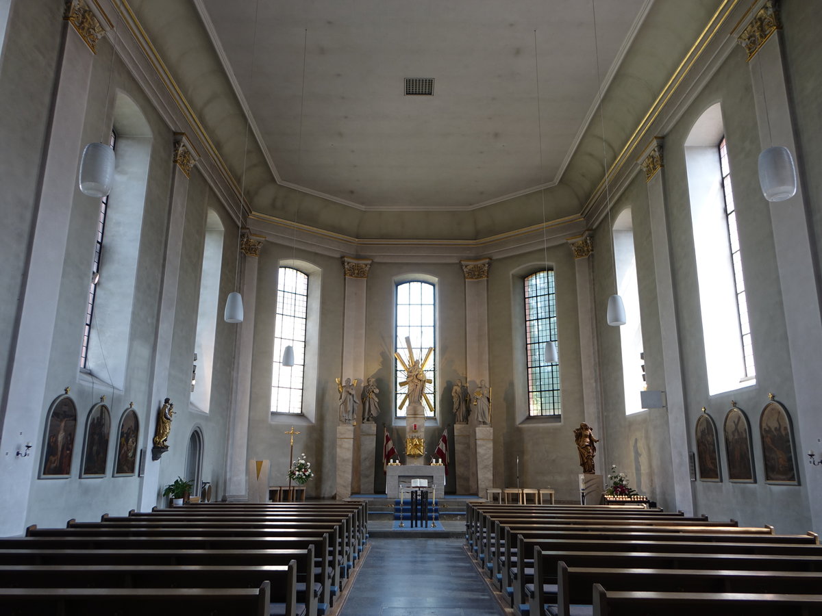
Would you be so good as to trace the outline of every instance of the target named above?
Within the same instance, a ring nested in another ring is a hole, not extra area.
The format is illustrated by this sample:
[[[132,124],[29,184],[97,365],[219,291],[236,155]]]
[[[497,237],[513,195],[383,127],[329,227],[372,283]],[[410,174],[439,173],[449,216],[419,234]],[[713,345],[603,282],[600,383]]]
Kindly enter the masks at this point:
[[[436,347],[436,287],[432,283],[422,281],[398,284],[395,313],[395,352],[399,352],[399,355],[408,361],[405,338],[409,338],[414,359],[424,361],[428,349]],[[424,371],[427,379],[431,379],[431,382],[425,385],[427,401],[431,403],[431,407],[423,399],[423,408],[425,416],[433,417],[436,415],[436,348],[428,357]],[[399,408],[407,392],[407,389],[399,384],[404,382],[406,376],[403,365],[395,361],[394,391],[398,417],[406,416],[408,410],[408,402]]]

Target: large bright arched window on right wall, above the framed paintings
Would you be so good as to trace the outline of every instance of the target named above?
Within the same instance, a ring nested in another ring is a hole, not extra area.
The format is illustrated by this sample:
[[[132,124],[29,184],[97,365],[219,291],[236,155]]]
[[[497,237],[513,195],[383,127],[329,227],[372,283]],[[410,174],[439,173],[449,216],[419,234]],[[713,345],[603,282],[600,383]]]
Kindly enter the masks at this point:
[[[690,216],[709,394],[755,384],[737,215],[722,109],[707,109],[686,140]]]

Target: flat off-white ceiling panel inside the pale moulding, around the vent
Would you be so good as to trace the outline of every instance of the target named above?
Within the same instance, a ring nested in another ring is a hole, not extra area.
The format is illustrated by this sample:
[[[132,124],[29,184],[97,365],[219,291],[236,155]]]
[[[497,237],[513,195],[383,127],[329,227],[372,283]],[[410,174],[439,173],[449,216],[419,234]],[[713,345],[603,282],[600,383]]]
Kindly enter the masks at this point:
[[[650,5],[197,2],[277,181],[363,209],[468,209],[558,182],[599,122],[598,73],[607,85]],[[434,78],[434,95],[404,96],[406,77]]]

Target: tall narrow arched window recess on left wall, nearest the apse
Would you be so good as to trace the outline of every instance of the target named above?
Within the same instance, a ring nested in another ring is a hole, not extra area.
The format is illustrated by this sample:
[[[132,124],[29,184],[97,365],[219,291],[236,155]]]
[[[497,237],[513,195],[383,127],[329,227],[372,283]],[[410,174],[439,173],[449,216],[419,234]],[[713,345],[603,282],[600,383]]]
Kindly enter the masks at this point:
[[[200,303],[197,307],[197,333],[194,344],[192,405],[209,411],[211,371],[214,365],[214,342],[219,310],[219,277],[223,265],[223,223],[213,209],[205,220],[205,242],[200,276]]]

